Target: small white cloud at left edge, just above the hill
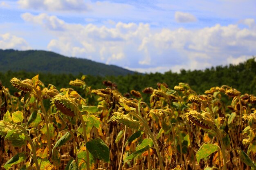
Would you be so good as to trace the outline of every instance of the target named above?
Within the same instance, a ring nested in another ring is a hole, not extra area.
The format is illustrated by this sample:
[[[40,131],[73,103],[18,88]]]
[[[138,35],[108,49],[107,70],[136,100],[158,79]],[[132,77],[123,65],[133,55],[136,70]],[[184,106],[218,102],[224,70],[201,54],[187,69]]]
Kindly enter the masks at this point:
[[[28,50],[31,47],[23,38],[11,35],[10,33],[0,34],[1,49]]]

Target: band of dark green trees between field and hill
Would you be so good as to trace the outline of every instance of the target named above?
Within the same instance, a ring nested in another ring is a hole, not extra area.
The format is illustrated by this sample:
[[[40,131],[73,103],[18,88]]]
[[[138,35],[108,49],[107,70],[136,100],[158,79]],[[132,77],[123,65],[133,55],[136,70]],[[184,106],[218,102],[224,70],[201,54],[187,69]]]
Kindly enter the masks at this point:
[[[13,93],[16,91],[10,84],[10,79],[18,77],[20,79],[31,78],[39,74],[40,80],[47,84],[53,84],[57,88],[69,87],[69,82],[72,79],[80,79],[82,73],[73,74],[52,74],[52,73],[33,73],[26,71],[7,71],[0,72],[0,80],[3,86],[10,89]],[[168,71],[162,73],[150,74],[128,74],[125,76],[94,76],[87,75],[85,82],[92,89],[105,88],[103,81],[115,82],[118,90],[121,93],[129,93],[131,90],[143,91],[146,87],[157,87],[157,83],[166,83],[169,88],[179,82],[188,83],[191,88],[202,94],[213,86],[221,86],[223,84],[236,88],[241,93],[256,94],[256,61],[255,58],[249,59],[246,62],[238,65],[230,64],[228,66],[216,66],[205,70],[186,71],[181,70],[180,73],[172,73]],[[81,89],[75,89],[81,91]],[[144,94],[144,98],[148,96]]]

